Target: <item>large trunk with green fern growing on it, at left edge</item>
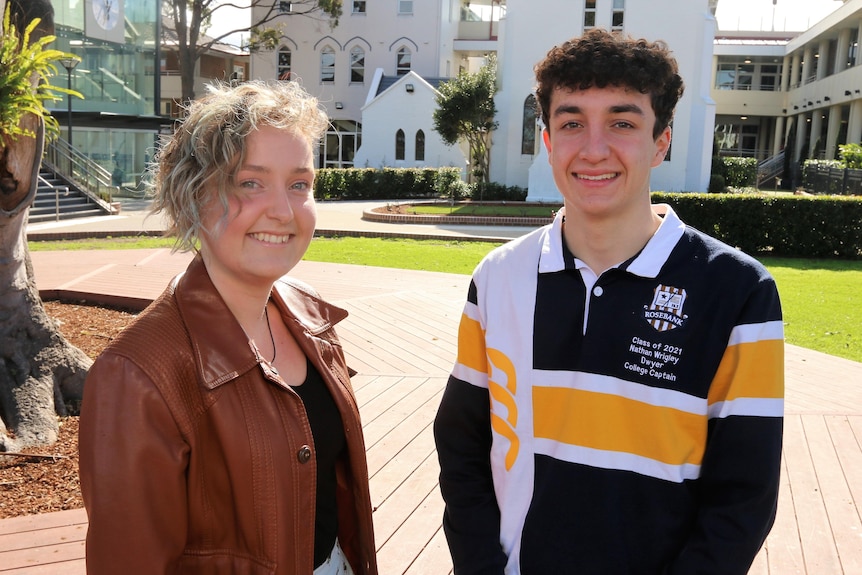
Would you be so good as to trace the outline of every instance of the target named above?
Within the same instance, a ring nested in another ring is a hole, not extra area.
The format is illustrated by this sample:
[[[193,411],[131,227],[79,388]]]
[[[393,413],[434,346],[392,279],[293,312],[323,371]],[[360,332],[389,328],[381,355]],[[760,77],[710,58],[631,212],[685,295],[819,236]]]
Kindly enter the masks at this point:
[[[50,0],[3,2],[0,39],[0,451],[57,439],[57,415],[77,409],[91,364],[47,316],[27,250],[44,137],[59,132],[45,109],[59,99],[54,62],[74,57],[53,41]]]

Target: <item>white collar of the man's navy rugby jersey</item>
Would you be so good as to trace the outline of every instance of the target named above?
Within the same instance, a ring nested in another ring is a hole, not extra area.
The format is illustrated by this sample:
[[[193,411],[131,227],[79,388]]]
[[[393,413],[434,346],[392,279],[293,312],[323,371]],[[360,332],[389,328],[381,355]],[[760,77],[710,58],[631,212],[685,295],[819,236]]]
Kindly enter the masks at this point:
[[[658,276],[685,231],[685,224],[668,204],[654,204],[653,211],[662,217],[658,230],[637,255],[619,266],[629,273],[647,278]],[[564,217],[565,208],[557,212],[553,223],[545,228],[539,256],[539,273],[554,273],[566,269],[563,250]]]

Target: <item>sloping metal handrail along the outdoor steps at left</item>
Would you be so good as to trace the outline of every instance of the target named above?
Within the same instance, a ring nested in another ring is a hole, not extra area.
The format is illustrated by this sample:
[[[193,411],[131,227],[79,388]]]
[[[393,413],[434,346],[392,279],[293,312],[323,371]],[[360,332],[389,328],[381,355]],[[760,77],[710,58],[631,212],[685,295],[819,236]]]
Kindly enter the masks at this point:
[[[74,184],[87,199],[108,213],[119,188],[111,182],[111,173],[90,157],[69,145],[63,138],[51,141],[42,160],[56,174]]]

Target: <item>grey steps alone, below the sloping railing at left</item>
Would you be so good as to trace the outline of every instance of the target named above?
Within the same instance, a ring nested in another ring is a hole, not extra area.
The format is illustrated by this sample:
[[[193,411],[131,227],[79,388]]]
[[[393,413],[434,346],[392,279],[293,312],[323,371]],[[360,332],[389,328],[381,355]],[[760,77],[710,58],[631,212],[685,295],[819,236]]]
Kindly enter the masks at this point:
[[[101,216],[110,213],[99,204],[59,177],[54,170],[44,164],[39,170],[39,185],[36,197],[30,206],[30,224],[55,222],[72,218]]]

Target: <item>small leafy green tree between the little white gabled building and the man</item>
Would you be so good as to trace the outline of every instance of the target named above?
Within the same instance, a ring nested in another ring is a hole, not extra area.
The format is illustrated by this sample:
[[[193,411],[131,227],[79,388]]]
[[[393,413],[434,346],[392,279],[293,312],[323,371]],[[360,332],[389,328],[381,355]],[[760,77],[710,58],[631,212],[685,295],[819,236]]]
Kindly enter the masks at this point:
[[[461,72],[439,87],[434,130],[450,146],[462,138],[470,148],[470,175],[480,182],[490,179],[491,132],[497,129],[497,60],[488,56],[475,74]]]

